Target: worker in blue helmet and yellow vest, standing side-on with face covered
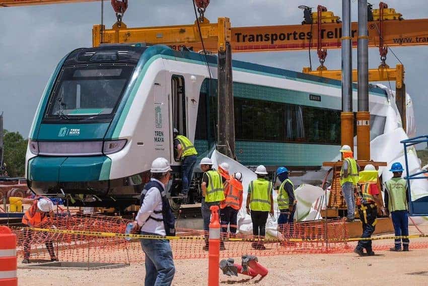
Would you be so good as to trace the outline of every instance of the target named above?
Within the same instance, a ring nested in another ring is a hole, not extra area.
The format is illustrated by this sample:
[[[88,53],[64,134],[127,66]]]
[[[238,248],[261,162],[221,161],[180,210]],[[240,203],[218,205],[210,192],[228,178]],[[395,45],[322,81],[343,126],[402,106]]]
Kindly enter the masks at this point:
[[[294,212],[296,211],[296,198],[293,182],[289,179],[289,170],[279,167],[276,170],[281,185],[278,190],[278,228],[284,238],[290,237],[294,230]]]

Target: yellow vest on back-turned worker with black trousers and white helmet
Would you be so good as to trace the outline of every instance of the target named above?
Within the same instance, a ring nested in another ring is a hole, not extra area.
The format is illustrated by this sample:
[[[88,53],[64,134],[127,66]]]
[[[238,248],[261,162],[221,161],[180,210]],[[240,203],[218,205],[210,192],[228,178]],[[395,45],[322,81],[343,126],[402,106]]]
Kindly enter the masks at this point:
[[[250,182],[250,191],[250,209],[269,211],[272,182],[261,178],[253,180]]]

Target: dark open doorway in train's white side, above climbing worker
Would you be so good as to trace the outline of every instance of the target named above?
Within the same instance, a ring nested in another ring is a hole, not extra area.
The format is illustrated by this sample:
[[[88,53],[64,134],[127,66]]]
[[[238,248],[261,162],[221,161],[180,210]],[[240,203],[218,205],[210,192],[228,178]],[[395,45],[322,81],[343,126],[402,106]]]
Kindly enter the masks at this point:
[[[186,96],[184,93],[184,78],[172,76],[172,120],[173,128],[177,128],[180,134],[187,136],[186,130]]]

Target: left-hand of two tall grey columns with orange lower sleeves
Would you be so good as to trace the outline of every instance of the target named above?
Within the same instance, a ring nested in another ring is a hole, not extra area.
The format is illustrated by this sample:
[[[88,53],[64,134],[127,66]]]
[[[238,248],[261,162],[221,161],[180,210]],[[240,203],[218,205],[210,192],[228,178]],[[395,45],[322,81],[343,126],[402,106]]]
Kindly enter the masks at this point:
[[[350,0],[342,0],[342,113],[341,145],[349,145],[353,150],[352,112],[352,38],[350,36]]]

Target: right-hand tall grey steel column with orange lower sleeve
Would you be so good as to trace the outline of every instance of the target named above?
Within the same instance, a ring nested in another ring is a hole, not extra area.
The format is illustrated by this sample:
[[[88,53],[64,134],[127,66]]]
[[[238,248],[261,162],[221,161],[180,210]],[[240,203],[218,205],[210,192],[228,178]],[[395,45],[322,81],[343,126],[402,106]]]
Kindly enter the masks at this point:
[[[367,0],[358,0],[358,112],[356,113],[356,142],[358,160],[370,160]]]

